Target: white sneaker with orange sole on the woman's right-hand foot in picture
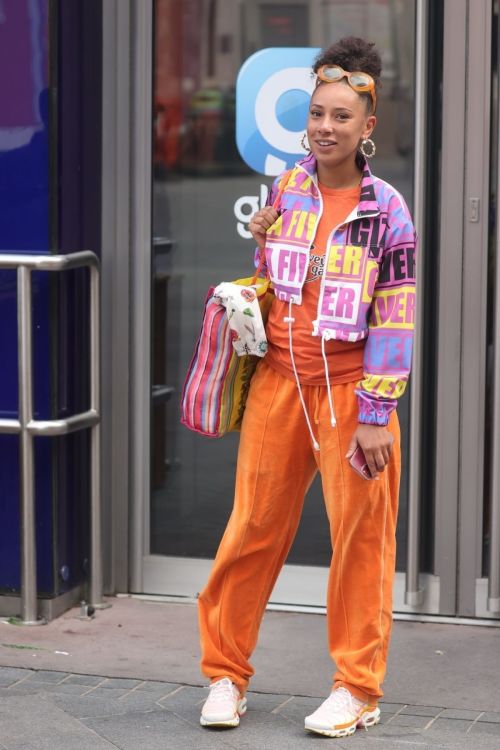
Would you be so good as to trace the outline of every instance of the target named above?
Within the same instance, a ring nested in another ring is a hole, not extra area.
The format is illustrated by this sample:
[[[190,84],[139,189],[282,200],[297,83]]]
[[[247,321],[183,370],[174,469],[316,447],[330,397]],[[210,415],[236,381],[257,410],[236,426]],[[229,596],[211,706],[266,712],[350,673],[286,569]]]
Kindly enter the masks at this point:
[[[333,690],[326,701],[310,716],[305,728],[326,737],[348,737],[356,727],[372,727],[380,721],[380,709],[369,706],[351,695],[347,688]]]

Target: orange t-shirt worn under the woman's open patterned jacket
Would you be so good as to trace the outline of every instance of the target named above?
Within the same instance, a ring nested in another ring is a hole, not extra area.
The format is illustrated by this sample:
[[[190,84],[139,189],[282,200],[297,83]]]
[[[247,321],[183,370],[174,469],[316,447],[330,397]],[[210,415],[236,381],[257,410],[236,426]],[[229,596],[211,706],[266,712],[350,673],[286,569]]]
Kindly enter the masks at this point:
[[[320,281],[325,262],[326,243],[334,227],[341,224],[359,203],[361,188],[327,188],[319,185],[323,196],[323,214],[311,247],[309,268],[302,288],[302,304],[292,306],[293,354],[299,380],[304,385],[325,385],[325,365],[321,337],[312,335],[316,319]],[[294,379],[288,339],[288,302],[273,300],[266,325],[269,349],[266,362],[287,378]],[[363,377],[365,340],[325,341],[330,383],[350,383]]]

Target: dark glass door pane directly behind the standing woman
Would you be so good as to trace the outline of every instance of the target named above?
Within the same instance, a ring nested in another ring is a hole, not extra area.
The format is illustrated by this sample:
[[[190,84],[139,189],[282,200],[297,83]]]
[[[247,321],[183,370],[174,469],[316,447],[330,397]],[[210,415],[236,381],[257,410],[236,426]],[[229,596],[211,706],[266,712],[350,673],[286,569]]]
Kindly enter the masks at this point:
[[[189,432],[179,423],[179,399],[208,287],[251,272],[254,247],[247,221],[265,200],[273,179],[272,169],[256,172],[236,146],[238,71],[263,48],[311,48],[312,59],[314,48],[359,34],[360,29],[376,42],[384,62],[379,103],[383,127],[374,134],[373,170],[398,188],[411,207],[414,0],[155,0],[145,593],[195,596],[231,511],[238,436],[212,440]],[[305,117],[304,92],[284,91],[273,116],[282,128],[296,131],[295,158],[300,158],[303,125],[297,124],[297,112]],[[283,162],[278,166],[281,171]],[[407,454],[408,394],[400,402],[399,416]],[[401,577],[407,485],[404,473],[397,561]],[[272,601],[323,604],[330,557],[321,488],[315,481]],[[403,587],[399,589],[402,604]]]

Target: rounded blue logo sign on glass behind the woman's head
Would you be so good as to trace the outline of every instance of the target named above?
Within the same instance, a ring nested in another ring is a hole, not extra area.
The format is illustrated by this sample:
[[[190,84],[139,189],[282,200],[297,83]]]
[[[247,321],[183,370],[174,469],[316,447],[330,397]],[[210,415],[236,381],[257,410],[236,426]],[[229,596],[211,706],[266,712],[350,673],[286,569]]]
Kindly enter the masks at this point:
[[[236,144],[256,172],[277,175],[305,156],[311,67],[319,47],[269,47],[246,60],[236,81]]]

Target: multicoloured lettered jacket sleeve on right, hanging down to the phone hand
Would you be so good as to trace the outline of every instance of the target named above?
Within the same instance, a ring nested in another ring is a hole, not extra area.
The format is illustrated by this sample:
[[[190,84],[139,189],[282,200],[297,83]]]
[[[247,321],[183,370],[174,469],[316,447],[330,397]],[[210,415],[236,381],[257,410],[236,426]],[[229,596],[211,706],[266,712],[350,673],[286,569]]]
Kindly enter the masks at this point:
[[[400,195],[389,201],[388,228],[368,320],[359,421],[386,425],[403,395],[411,368],[415,325],[416,235]]]

